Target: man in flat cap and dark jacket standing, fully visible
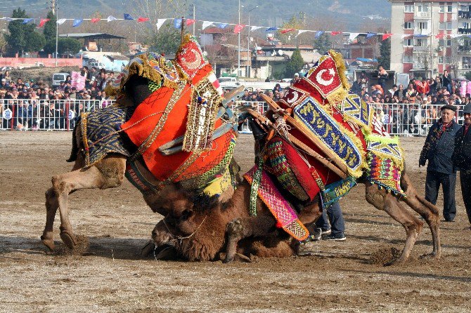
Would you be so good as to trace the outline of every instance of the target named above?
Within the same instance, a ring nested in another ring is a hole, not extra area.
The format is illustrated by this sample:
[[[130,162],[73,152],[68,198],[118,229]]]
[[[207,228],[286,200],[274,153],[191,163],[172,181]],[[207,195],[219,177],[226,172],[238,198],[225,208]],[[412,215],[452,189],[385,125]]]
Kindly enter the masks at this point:
[[[441,118],[430,127],[419,159],[419,167],[427,166],[425,199],[437,204],[439,187],[443,189],[443,216],[446,222],[453,222],[456,215],[455,184],[456,171],[451,158],[455,147],[455,136],[460,126],[455,121],[456,107],[441,107]]]

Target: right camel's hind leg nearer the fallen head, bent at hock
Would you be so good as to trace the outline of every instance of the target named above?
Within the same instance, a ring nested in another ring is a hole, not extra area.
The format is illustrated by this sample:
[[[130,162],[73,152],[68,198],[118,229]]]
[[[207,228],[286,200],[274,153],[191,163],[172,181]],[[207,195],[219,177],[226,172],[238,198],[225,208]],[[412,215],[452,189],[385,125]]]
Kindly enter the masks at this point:
[[[369,182],[366,184],[366,201],[373,204],[375,208],[388,213],[389,216],[400,222],[406,229],[406,244],[401,256],[387,265],[406,262],[415,244],[415,239],[417,239],[419,232],[422,230],[423,223],[407,211],[404,206],[401,206],[400,202],[392,194],[389,194],[385,189],[378,189],[378,186],[372,185]]]

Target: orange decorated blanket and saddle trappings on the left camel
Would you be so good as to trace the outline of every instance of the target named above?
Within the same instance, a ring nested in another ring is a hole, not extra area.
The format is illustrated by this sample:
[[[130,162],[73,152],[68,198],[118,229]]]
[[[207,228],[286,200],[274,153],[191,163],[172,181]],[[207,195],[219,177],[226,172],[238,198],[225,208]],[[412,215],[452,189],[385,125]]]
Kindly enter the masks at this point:
[[[188,180],[200,188],[216,178],[224,178],[225,184],[236,140],[235,121],[224,114],[230,109],[221,108],[222,88],[195,38],[185,37],[173,61],[157,53],[138,55],[107,86],[107,93],[119,98],[136,77],[145,83],[141,103],[126,112],[115,105],[85,116],[84,142],[92,147],[88,165],[107,152],[117,152],[130,156],[130,162],[141,157],[162,185]],[[105,123],[110,125],[103,127]],[[125,146],[118,142],[122,138],[134,151],[118,148]],[[180,148],[162,153],[159,148],[169,142]],[[129,176],[139,175],[133,171]]]

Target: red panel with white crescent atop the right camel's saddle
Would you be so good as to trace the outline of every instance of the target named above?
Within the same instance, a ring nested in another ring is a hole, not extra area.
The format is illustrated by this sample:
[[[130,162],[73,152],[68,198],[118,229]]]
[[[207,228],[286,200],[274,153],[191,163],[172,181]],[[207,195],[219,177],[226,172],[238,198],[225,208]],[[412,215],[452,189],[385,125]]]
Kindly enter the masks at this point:
[[[309,69],[305,79],[321,93],[323,98],[326,98],[337,88],[342,88],[342,81],[340,81],[335,61],[328,54],[319,59],[317,65]]]

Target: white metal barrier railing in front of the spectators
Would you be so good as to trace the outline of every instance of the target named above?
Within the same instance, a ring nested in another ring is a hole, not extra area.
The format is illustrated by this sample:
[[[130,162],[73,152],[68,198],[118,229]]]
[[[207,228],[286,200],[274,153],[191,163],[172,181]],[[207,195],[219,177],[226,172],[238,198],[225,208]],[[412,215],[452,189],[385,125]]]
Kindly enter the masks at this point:
[[[81,112],[92,112],[111,105],[114,100],[11,100],[0,99],[0,130],[70,131]],[[252,107],[261,114],[268,105],[261,101],[238,101],[238,106]],[[391,135],[427,135],[428,129],[440,117],[439,105],[403,103],[373,103],[373,109]],[[456,120],[463,124],[462,105],[458,105]],[[250,133],[248,124],[239,130]]]

